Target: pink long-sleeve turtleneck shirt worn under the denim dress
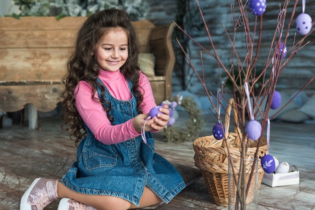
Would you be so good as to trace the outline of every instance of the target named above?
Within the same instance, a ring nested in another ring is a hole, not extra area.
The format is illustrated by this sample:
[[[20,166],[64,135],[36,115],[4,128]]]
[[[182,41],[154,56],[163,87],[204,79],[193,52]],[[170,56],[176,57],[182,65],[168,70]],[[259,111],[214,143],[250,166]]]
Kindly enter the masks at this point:
[[[115,72],[101,70],[99,78],[113,97],[120,100],[131,99],[128,83],[120,70]],[[139,86],[143,88],[143,90],[139,88],[143,94],[140,108],[143,113],[149,113],[156,104],[149,80],[143,73],[140,73]],[[132,119],[123,124],[111,125],[102,105],[92,99],[92,88],[86,81],[80,81],[74,91],[75,107],[97,140],[103,144],[117,144],[140,135],[133,128]],[[95,97],[98,98],[97,93]]]

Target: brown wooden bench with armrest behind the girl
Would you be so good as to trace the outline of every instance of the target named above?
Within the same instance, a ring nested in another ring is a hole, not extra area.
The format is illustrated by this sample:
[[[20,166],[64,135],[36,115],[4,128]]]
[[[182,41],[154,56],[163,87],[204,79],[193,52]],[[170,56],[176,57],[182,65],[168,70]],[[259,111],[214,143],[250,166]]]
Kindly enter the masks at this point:
[[[29,127],[35,128],[37,111],[49,112],[61,101],[66,60],[74,37],[86,17],[0,18],[0,111],[29,109]],[[133,22],[141,50],[155,57],[149,76],[157,104],[171,97],[175,64],[172,47],[174,24],[154,26],[148,20]]]

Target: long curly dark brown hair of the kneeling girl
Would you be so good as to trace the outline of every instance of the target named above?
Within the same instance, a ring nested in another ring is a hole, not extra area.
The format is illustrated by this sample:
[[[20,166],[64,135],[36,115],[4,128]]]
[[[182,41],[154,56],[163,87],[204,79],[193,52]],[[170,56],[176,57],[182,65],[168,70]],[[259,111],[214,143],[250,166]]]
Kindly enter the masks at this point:
[[[62,78],[62,83],[65,85],[65,89],[61,93],[63,98],[62,118],[65,123],[61,128],[70,133],[70,138],[75,140],[76,145],[87,134],[83,120],[75,108],[76,93],[74,89],[80,80],[85,80],[92,87],[91,97],[93,100],[102,105],[108,104],[107,108],[103,105],[103,109],[107,113],[108,119],[113,121],[113,117],[109,115],[111,104],[104,99],[105,88],[96,81],[100,74],[100,66],[94,54],[102,37],[115,28],[123,29],[128,35],[128,58],[120,70],[126,79],[132,81],[131,90],[138,98],[137,110],[138,113],[142,113],[139,106],[143,100],[143,95],[138,90],[140,45],[135,28],[131,24],[129,15],[123,10],[109,9],[97,12],[90,16],[78,31],[74,51],[67,61],[67,73]],[[94,96],[97,85],[100,85],[102,90],[100,99]]]

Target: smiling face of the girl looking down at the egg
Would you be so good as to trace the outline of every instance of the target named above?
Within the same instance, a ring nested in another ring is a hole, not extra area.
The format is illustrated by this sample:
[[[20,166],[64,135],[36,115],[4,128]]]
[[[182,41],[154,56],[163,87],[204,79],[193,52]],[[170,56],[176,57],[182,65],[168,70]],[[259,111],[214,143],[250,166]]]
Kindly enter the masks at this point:
[[[113,29],[101,39],[95,52],[99,66],[105,71],[117,71],[128,58],[128,36],[122,29]]]

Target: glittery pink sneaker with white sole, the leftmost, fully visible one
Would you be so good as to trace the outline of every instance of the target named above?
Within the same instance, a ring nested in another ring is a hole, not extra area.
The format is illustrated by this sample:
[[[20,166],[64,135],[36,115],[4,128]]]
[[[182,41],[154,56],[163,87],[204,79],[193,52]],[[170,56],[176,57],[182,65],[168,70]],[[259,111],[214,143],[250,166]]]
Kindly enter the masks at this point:
[[[59,199],[56,179],[37,178],[21,198],[21,210],[43,210],[49,203]]]

